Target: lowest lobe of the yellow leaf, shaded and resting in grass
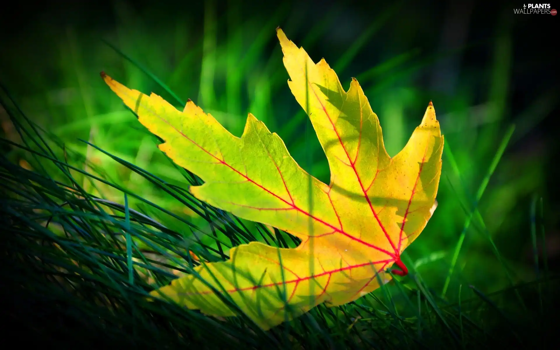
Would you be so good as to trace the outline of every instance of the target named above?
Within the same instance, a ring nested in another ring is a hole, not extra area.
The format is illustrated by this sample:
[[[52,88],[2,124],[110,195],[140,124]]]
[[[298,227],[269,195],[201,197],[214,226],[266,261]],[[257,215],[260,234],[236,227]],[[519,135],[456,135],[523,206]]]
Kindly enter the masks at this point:
[[[310,256],[302,249],[278,249],[260,242],[232,248],[226,262],[195,268],[202,280],[225,292],[249,318],[263,329],[293,319],[322,302],[346,304],[379,287],[376,272],[389,261],[357,264],[351,256]],[[314,271],[309,271],[314,259]],[[352,264],[349,264],[352,263]],[[151,292],[164,295],[189,309],[213,316],[234,316],[216,293],[194,274],[175,279]]]

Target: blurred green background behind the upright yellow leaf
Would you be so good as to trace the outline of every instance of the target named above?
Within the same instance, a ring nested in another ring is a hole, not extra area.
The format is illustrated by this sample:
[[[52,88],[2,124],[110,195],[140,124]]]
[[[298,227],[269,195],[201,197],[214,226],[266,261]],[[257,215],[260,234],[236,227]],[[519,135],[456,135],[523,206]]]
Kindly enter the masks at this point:
[[[433,101],[446,138],[439,206],[407,254],[434,291],[445,289],[453,300],[460,284],[492,292],[534,279],[531,230],[540,269],[544,252],[549,268],[558,268],[560,174],[553,120],[560,60],[553,33],[560,17],[515,15],[521,4],[482,1],[14,6],[1,24],[0,81],[22,110],[92,166],[79,159],[75,164],[199,227],[208,224],[78,140],[186,185],[157,150],[157,139],[124,108],[99,72],[144,93],[153,91],[178,108],[190,98],[237,136],[250,111],[281,136],[305,170],[328,183],[324,153],[286,83],[274,31],[281,26],[315,62],[324,57],[343,87],[351,77],[358,79],[379,116],[391,156]],[[4,135],[13,137],[3,109],[0,118]],[[84,181],[92,193],[123,203],[122,193]],[[187,231],[171,217],[150,214],[167,227]]]

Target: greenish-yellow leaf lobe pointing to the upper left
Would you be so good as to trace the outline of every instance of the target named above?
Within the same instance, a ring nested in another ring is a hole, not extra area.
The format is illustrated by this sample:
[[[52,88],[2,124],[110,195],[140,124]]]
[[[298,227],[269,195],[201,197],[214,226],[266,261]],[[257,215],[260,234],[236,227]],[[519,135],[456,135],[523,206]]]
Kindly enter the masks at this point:
[[[197,198],[303,240],[338,229],[328,186],[312,178],[309,188],[310,175],[296,164],[282,140],[253,115],[249,114],[238,138],[192,101],[181,112],[160,96],[130,90],[109,76],[105,81],[148,130],[164,139],[160,149],[205,181],[190,188]]]

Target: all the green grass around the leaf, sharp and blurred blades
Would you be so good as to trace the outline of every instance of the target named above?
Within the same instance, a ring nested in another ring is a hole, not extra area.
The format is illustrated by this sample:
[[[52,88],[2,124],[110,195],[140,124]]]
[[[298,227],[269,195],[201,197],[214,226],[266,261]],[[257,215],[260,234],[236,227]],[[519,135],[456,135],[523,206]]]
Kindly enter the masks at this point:
[[[169,19],[155,25],[147,14],[157,9],[111,6],[114,30],[51,25],[37,42],[55,43],[57,51],[30,40],[1,60],[0,215],[7,229],[0,300],[18,341],[305,349],[553,344],[558,275],[546,255],[555,208],[546,190],[548,158],[520,150],[557,108],[558,87],[543,85],[534,102],[508,108],[522,65],[511,22],[492,22],[491,38],[433,50],[410,36],[416,26],[402,29],[405,19],[395,19],[407,16],[402,8],[409,4],[400,2],[376,11],[355,40],[328,44],[343,20],[336,8],[306,21],[290,4],[260,16],[262,9],[246,14],[242,3],[225,10],[208,3],[193,7],[189,20],[167,10]],[[286,85],[274,41],[278,24],[312,58],[336,67],[343,86],[358,77],[390,155],[404,146],[430,99],[446,146],[439,206],[403,256],[409,275],[263,332],[243,317],[216,320],[146,300],[155,286],[192,273],[198,262],[189,250],[218,261],[249,241],[298,241],[190,195],[188,186],[200,179],[157,150],[157,139],[98,74],[105,70],[179,107],[190,97],[237,135],[250,111],[282,137],[298,164],[328,183],[320,145]],[[32,58],[35,50],[43,50],[44,64]],[[476,63],[480,50],[489,58]],[[470,74],[459,76],[455,92],[427,87],[427,72],[458,53]]]

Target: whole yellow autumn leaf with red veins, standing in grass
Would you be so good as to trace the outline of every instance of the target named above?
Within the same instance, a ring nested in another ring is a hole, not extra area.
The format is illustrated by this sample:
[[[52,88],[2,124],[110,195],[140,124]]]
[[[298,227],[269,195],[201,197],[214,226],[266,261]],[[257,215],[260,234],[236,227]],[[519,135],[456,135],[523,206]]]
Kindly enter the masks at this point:
[[[160,149],[204,184],[200,200],[246,220],[299,237],[295,249],[260,242],[230,250],[225,262],[206,263],[152,296],[167,297],[213,316],[234,316],[217,292],[263,329],[323,302],[346,304],[404,276],[400,255],[435,209],[444,138],[432,103],[407,145],[385,151],[379,119],[352,79],[344,91],[324,59],[315,64],[277,30],[290,75],[288,85],[311,119],[329,161],[330,184],[307,174],[276,133],[249,114],[235,137],[193,101],[183,111],[160,96],[144,95],[102,73],[139,121],[163,139]]]

